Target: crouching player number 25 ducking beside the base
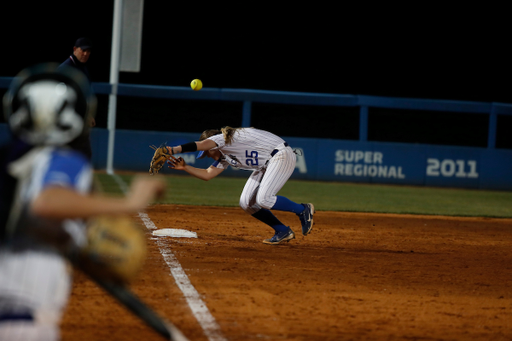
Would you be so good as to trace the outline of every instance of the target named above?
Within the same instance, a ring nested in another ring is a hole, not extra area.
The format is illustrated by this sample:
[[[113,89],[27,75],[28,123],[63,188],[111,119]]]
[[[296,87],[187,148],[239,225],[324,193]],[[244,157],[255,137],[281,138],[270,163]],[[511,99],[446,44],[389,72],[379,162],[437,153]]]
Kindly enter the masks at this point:
[[[265,244],[279,244],[295,238],[293,230],[284,225],[270,210],[297,214],[302,234],[313,228],[313,204],[298,204],[277,195],[295,170],[297,158],[282,138],[255,128],[224,127],[201,134],[199,142],[168,147],[171,154],[199,150],[197,158],[208,156],[215,162],[207,169],[189,166],[182,158],[171,156],[169,168],[184,170],[202,180],[210,180],[228,166],[252,171],[240,197],[240,207],[254,218],[272,227],[275,234]]]

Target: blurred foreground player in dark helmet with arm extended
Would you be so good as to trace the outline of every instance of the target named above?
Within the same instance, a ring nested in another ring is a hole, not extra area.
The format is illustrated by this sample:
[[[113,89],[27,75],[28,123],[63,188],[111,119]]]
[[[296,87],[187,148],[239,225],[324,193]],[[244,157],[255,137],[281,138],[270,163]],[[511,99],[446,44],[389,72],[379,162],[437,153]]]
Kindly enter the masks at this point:
[[[91,194],[87,158],[67,145],[87,133],[95,98],[83,73],[22,71],[4,97],[12,141],[1,149],[0,340],[54,341],[71,287],[64,255],[86,247],[86,219],[144,209],[163,193],[138,178],[125,198]]]

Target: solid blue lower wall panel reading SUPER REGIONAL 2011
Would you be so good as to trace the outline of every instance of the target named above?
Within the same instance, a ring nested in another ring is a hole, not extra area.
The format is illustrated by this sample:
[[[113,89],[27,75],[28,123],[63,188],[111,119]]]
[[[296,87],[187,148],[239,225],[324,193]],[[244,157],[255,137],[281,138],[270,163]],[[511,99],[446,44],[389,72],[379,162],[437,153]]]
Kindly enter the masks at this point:
[[[93,129],[94,166],[106,167],[106,129]],[[118,130],[114,169],[148,171],[153,150],[149,145],[178,145],[197,140],[197,134]],[[512,190],[512,150],[411,145],[285,137],[297,149],[292,179],[361,183],[424,185]],[[196,160],[182,154],[195,167],[208,167],[211,159]],[[164,174],[180,174],[168,168]],[[230,168],[222,173],[247,177],[249,172]]]

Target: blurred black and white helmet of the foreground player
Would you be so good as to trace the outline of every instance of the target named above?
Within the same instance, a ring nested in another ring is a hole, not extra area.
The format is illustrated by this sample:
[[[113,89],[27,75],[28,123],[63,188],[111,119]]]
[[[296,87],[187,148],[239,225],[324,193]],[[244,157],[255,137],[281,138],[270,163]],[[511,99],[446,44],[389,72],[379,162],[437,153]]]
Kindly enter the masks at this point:
[[[4,106],[9,127],[20,139],[32,145],[64,145],[88,129],[95,98],[79,71],[43,64],[15,78]]]

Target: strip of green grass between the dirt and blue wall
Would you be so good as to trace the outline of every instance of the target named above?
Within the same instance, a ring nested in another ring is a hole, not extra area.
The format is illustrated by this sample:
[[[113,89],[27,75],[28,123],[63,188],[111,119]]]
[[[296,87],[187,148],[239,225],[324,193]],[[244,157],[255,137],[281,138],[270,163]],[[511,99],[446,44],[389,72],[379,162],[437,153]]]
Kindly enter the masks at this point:
[[[190,176],[161,176],[169,184],[159,203],[238,206],[245,178],[218,177],[208,182]],[[122,194],[114,178],[95,175],[101,189]],[[120,175],[129,183],[133,175]],[[279,195],[312,202],[320,211],[408,213],[512,218],[512,192],[290,180]]]

